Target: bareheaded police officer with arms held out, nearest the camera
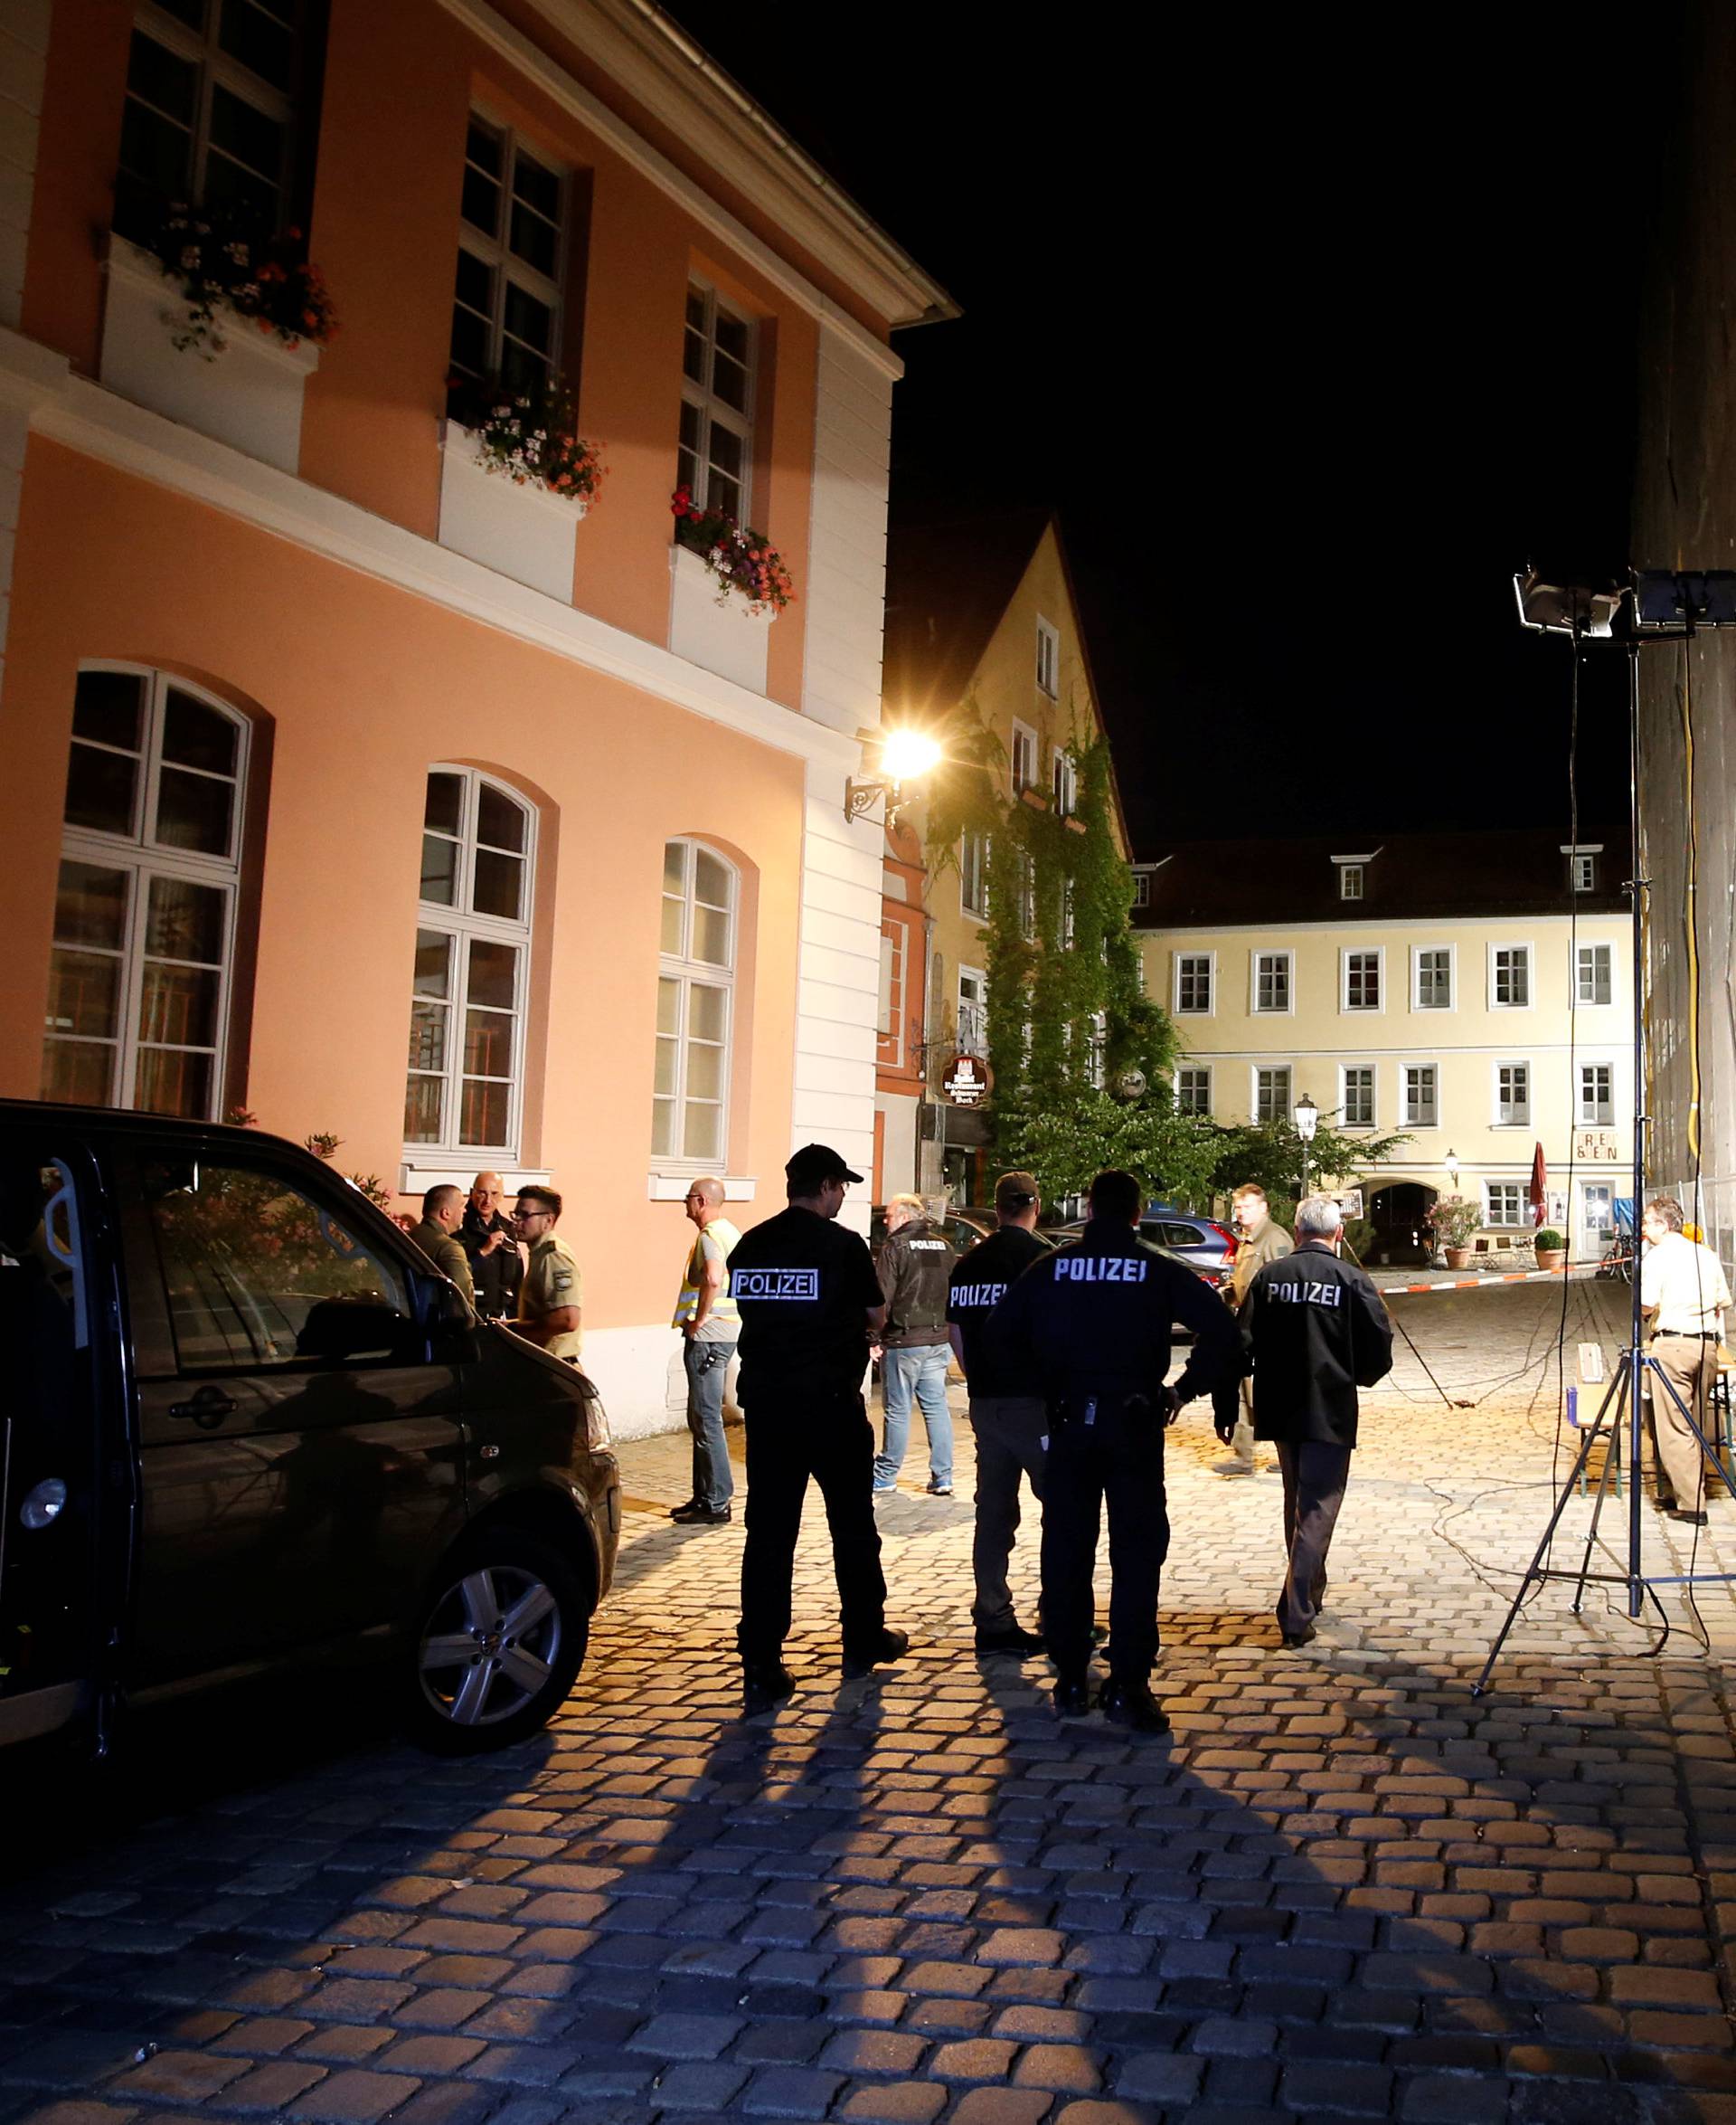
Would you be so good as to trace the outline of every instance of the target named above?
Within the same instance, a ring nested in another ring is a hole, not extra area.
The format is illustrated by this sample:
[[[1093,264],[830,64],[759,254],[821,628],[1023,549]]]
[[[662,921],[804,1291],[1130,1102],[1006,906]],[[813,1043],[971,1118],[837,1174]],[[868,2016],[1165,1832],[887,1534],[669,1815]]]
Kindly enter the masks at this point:
[[[1152,1662],[1169,1551],[1164,1426],[1186,1400],[1235,1379],[1241,1354],[1235,1322],[1201,1277],[1139,1239],[1141,1201],[1130,1173],[1099,1173],[1084,1235],[1024,1271],[994,1326],[1048,1402],[1043,1636],[1054,1708],[1062,1719],[1090,1711],[1092,1566],[1107,1504],[1109,1681],[1099,1702],[1118,1726],[1162,1734]],[[1194,1349],[1164,1386],[1173,1322],[1194,1330]]]

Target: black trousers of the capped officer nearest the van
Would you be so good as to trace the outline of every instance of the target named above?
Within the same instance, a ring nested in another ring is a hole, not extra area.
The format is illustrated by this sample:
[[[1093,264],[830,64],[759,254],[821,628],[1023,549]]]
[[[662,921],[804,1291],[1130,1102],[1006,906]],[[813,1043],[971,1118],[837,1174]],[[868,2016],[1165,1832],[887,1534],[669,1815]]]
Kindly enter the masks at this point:
[[[886,1579],[873,1524],[873,1426],[861,1394],[754,1396],[748,1420],[748,1541],[742,1551],[742,1660],[771,1664],[790,1628],[790,1572],[807,1479],[831,1528],[844,1649],[867,1651],[886,1628]]]

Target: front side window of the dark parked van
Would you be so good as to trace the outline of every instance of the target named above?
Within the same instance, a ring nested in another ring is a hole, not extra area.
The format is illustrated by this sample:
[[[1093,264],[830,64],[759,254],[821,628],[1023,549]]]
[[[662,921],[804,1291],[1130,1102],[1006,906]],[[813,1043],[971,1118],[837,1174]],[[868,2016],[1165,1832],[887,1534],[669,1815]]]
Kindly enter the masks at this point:
[[[404,1273],[293,1182],[193,1158],[142,1177],[183,1373],[402,1354]]]

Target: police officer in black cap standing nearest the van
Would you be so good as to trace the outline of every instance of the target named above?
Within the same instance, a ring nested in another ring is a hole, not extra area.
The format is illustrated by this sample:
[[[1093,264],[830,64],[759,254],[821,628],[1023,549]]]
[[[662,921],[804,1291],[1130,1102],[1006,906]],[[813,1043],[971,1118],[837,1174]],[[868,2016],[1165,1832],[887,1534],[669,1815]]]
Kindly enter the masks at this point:
[[[756,1224],[729,1256],[729,1296],[742,1315],[735,1392],[748,1420],[735,1634],[748,1715],[771,1711],[795,1689],[784,1636],[810,1477],[827,1500],[846,1677],[909,1649],[901,1630],[886,1628],[873,1426],[863,1402],[869,1337],[884,1326],[886,1307],[867,1241],[835,1222],[861,1177],[829,1145],[803,1145],[784,1167],[788,1209]]]

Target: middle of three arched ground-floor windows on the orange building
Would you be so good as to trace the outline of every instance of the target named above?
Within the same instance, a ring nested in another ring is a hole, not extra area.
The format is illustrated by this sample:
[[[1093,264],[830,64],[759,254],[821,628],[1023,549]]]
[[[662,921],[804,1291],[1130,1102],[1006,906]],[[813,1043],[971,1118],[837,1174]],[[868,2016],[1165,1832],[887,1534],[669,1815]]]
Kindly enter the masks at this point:
[[[535,812],[474,767],[433,767],[410,994],[404,1141],[518,1156]]]

